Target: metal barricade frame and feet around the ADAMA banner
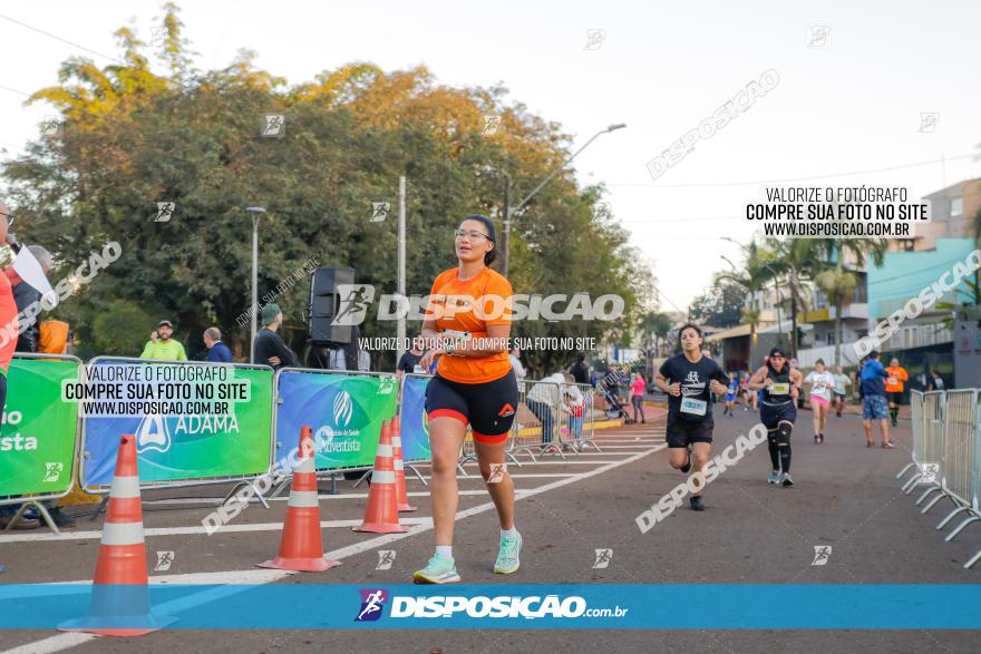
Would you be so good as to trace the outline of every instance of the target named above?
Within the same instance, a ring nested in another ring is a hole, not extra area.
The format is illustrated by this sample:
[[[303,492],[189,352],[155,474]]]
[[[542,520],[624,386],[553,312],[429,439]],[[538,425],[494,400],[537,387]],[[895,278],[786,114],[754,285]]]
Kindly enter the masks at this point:
[[[187,365],[187,367],[231,368],[234,370],[268,370],[268,371],[272,372],[272,368],[269,365],[255,365],[255,364],[249,364],[249,363],[214,363],[214,362],[210,362],[210,361],[171,361],[171,360],[162,360],[162,359],[139,359],[139,358],[133,358],[133,357],[99,355],[99,357],[95,357],[95,358],[90,359],[88,361],[88,363],[84,367],[84,370],[86,371],[86,375],[88,375],[88,371],[91,370],[95,365],[97,365],[98,363],[104,363],[104,362],[110,363],[110,364],[114,362],[115,363],[129,363],[129,364],[134,364],[134,365]],[[255,491],[255,496],[259,499],[259,501],[262,502],[263,506],[269,508],[269,504],[266,502],[266,500],[262,496],[262,494],[259,491],[259,489],[254,486],[254,481],[259,477],[262,477],[263,475],[266,475],[269,472],[269,470],[272,467],[273,458],[275,456],[274,435],[275,435],[276,416],[275,416],[275,396],[274,396],[275,380],[274,380],[273,375],[270,375],[270,384],[271,384],[270,385],[270,393],[273,399],[272,399],[272,402],[270,402],[271,403],[271,407],[270,407],[270,430],[271,430],[271,433],[270,433],[269,443],[266,446],[269,453],[268,453],[268,458],[266,458],[265,470],[258,471],[254,474],[247,474],[247,475],[193,477],[193,478],[187,478],[187,479],[166,480],[166,481],[140,481],[140,484],[139,484],[140,489],[142,490],[163,490],[163,489],[168,489],[168,488],[188,488],[188,487],[195,487],[195,486],[227,484],[230,481],[233,481],[233,482],[235,482],[235,486],[232,488],[231,492],[229,492],[229,495],[225,497],[223,502],[227,501],[227,499],[231,498],[239,488],[245,487],[245,486],[251,486],[253,488],[253,490]],[[90,420],[87,416],[85,416],[81,406],[79,406],[79,411],[81,412],[81,423],[82,423],[82,427],[81,427],[82,436],[81,436],[80,457],[79,457],[80,458],[79,479],[81,481],[79,485],[81,486],[82,490],[85,490],[86,492],[91,492],[91,494],[104,496],[103,501],[99,505],[99,508],[96,509],[95,514],[91,517],[91,519],[95,520],[98,517],[98,515],[105,509],[105,507],[107,506],[107,504],[109,501],[108,494],[109,494],[109,490],[111,489],[111,481],[109,484],[101,484],[101,485],[95,485],[95,486],[90,486],[87,481],[86,465],[87,465],[87,461],[91,458],[90,451],[87,448],[87,446],[89,445],[88,430],[89,430],[89,421]],[[144,417],[143,419],[145,420],[146,417]],[[113,455],[113,461],[115,461],[115,453]],[[152,500],[144,499],[144,501],[152,501]]]

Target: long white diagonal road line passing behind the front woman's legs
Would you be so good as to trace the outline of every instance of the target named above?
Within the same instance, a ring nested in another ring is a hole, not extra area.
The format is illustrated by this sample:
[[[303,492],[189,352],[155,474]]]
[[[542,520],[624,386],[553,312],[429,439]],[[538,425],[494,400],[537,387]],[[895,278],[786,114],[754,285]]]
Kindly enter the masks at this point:
[[[614,470],[621,466],[625,466],[632,463],[637,460],[640,460],[649,455],[658,452],[664,449],[664,446],[657,446],[647,451],[640,452],[638,455],[633,455],[632,457],[628,457],[627,459],[622,459],[620,461],[612,461],[602,466],[601,468],[595,468],[593,470],[589,470],[586,472],[581,472],[579,475],[573,475],[571,477],[566,477],[565,479],[560,479],[556,481],[552,481],[551,484],[546,484],[544,486],[540,486],[537,488],[526,490],[523,492],[515,492],[515,501],[519,499],[524,499],[527,497],[534,497],[542,492],[547,492],[550,490],[554,490],[556,488],[562,488],[563,486],[569,486],[570,484],[575,484],[576,481],[582,481],[583,479],[589,479],[591,477],[596,477],[598,475],[602,475],[604,472],[609,472],[610,470]],[[470,516],[476,516],[478,514],[483,514],[485,511],[489,511],[494,509],[494,502],[488,501],[476,507],[465,509],[463,511],[458,511],[456,515],[457,520],[462,520],[464,518],[469,518]],[[409,530],[405,534],[386,534],[383,536],[378,536],[376,538],[369,538],[368,540],[356,543],[353,545],[349,545],[347,547],[342,547],[340,549],[336,549],[333,551],[327,553],[324,556],[332,559],[343,559],[346,557],[354,556],[357,554],[361,554],[365,551],[370,551],[377,549],[382,545],[387,545],[389,543],[394,543],[396,540],[401,540],[402,538],[408,538],[409,536],[416,536],[424,531],[428,531],[433,528],[433,519],[424,518],[417,523],[414,527],[410,527]],[[193,573],[187,575],[169,575],[169,576],[161,576],[155,577],[154,583],[181,583],[181,584],[266,584],[279,580],[292,573],[285,570],[259,570],[260,573],[264,573],[264,576],[258,577],[255,576],[256,570],[230,570],[225,573]],[[243,577],[249,578],[247,582],[242,582]],[[175,580],[179,579],[179,580]],[[261,579],[258,580],[256,579]],[[82,582],[85,583],[85,582]],[[229,588],[229,593],[233,593],[235,590],[234,586]],[[211,592],[202,593],[202,595],[210,595]],[[191,602],[191,597],[185,597],[179,601],[187,603]],[[207,602],[213,599],[212,596],[206,598]],[[188,604],[182,604],[182,606],[188,606]],[[161,605],[155,607],[156,611],[164,613],[166,605]],[[62,650],[67,650],[69,647],[75,647],[76,645],[80,645],[82,643],[88,642],[94,638],[93,634],[60,634],[58,636],[52,636],[50,638],[45,638],[42,641],[36,641],[33,643],[27,643],[21,645],[20,647],[8,650],[0,654],[51,654],[54,652],[61,652]]]

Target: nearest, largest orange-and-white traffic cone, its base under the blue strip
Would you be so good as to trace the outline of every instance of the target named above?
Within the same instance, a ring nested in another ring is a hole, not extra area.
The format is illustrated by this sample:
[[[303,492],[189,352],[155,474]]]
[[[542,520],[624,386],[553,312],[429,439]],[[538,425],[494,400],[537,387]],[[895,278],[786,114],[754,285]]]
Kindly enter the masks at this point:
[[[104,636],[142,636],[171,624],[174,618],[150,613],[147,579],[136,438],[127,433],[119,441],[116,456],[88,615],[58,628]]]

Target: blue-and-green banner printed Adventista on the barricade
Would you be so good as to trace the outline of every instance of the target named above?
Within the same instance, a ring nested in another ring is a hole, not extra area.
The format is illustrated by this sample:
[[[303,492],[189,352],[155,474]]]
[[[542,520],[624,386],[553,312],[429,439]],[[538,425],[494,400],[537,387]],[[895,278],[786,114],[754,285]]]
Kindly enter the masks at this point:
[[[381,421],[395,416],[392,377],[285,371],[279,378],[276,461],[289,469],[300,430],[313,429],[318,470],[375,465]]]

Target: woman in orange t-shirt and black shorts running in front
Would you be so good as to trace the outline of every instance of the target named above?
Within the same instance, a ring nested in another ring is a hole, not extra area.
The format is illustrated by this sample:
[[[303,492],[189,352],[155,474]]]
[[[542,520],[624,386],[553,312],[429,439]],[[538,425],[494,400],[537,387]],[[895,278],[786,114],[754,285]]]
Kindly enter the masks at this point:
[[[487,265],[497,240],[494,222],[469,215],[454,232],[458,265],[437,275],[429,293],[422,339],[429,348],[419,364],[435,377],[426,388],[426,413],[433,449],[436,553],[414,579],[422,584],[459,582],[453,558],[453,529],[459,492],[456,466],[470,426],[480,475],[497,508],[501,549],[494,572],[521,566],[522,537],[514,528],[514,485],[504,448],[517,407],[517,381],[508,359],[512,287]]]

